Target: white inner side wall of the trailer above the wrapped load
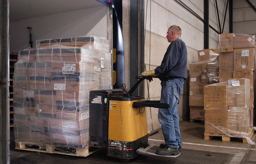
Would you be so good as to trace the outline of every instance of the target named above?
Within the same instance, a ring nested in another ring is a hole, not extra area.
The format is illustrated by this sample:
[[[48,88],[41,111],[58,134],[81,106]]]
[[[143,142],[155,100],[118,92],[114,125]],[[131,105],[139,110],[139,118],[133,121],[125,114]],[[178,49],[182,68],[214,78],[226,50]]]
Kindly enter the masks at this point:
[[[107,7],[99,6],[72,12],[10,22],[10,52],[29,47],[29,30],[32,27],[33,48],[36,40],[79,37],[89,34],[107,37]]]

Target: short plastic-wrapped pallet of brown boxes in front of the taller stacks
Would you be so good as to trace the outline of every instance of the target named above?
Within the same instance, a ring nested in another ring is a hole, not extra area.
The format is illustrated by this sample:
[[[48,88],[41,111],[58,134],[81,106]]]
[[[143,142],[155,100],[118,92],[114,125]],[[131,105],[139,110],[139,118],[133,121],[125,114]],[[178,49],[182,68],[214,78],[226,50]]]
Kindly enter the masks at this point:
[[[228,79],[204,86],[204,139],[214,136],[229,142],[232,137],[251,142],[250,80]]]

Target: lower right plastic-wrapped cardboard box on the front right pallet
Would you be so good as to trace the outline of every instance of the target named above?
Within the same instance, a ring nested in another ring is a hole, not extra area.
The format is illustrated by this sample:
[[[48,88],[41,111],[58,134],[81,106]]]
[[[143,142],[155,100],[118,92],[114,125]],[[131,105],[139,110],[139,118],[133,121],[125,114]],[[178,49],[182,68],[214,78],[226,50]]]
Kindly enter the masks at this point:
[[[249,107],[228,107],[228,134],[239,135],[248,133],[250,130]]]

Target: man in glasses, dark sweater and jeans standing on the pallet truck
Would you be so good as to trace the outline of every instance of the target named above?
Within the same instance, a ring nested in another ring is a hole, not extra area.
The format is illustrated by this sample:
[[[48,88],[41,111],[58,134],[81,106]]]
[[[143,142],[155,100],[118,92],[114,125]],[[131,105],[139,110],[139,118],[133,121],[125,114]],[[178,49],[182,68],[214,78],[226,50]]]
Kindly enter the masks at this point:
[[[167,40],[171,44],[163,57],[160,66],[155,70],[145,71],[140,76],[155,76],[161,80],[160,103],[168,103],[169,109],[159,109],[158,120],[162,125],[165,144],[160,145],[157,155],[178,155],[181,152],[178,100],[183,90],[184,80],[187,78],[187,49],[181,40],[181,28],[173,25],[168,28]]]

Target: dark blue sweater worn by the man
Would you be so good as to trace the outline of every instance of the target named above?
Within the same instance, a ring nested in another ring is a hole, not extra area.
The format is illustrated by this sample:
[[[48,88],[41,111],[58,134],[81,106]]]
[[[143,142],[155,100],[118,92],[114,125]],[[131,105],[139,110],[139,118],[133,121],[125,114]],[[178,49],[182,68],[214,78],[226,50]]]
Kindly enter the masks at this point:
[[[168,46],[161,65],[155,69],[155,74],[159,74],[161,81],[171,78],[187,79],[187,48],[181,38],[175,39]]]

